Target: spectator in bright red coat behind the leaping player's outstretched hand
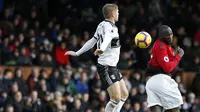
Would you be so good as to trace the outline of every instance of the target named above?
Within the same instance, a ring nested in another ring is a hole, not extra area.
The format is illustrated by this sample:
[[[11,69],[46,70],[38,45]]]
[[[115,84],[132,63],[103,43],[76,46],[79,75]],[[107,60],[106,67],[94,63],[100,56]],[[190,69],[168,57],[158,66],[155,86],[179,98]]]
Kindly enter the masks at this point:
[[[66,65],[69,64],[69,57],[67,55],[64,55],[65,52],[67,52],[67,45],[65,42],[62,42],[60,45],[56,46],[55,49],[55,58],[56,58],[56,62],[59,65]]]

